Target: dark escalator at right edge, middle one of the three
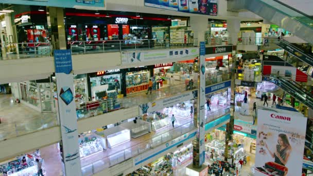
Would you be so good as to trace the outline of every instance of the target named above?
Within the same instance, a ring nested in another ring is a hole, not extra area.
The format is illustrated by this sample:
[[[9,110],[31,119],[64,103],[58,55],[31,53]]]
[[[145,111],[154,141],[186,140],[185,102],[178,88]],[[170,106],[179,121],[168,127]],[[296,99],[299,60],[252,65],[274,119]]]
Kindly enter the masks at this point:
[[[308,65],[313,66],[313,56],[307,53],[306,51],[304,51],[303,49],[285,40],[281,40],[280,43],[277,43],[276,45],[278,45],[282,49],[285,49],[286,51],[289,52],[289,54],[293,55],[294,57],[297,57],[298,59],[307,63]]]

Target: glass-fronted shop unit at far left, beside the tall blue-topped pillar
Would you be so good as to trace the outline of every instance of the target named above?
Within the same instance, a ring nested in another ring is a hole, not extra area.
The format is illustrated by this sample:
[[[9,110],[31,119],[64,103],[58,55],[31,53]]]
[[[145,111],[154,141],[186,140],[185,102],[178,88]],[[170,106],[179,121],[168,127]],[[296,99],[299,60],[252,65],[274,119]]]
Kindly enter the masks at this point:
[[[40,112],[55,111],[54,87],[50,79],[20,82],[18,89],[19,96],[15,98],[20,99],[22,103]]]

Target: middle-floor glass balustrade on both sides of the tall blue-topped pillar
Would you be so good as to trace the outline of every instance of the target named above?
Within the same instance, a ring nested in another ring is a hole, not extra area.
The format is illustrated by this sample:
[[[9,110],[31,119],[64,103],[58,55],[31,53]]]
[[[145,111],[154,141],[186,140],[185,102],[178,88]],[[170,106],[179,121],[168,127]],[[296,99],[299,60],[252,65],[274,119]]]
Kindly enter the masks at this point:
[[[162,88],[160,91],[153,91],[151,95],[144,94],[143,96],[138,96],[138,94],[134,94],[124,98],[99,100],[96,102],[96,105],[89,104],[78,108],[76,111],[77,118],[89,118],[103,113],[116,111],[121,108],[126,109],[134,107],[156,99],[178,95],[184,91],[195,90],[197,87],[198,83],[194,83],[191,89],[187,86],[187,84],[177,84]],[[42,116],[24,119],[25,120],[10,122],[7,124],[0,124],[0,140],[21,136],[59,125],[56,113],[45,113]]]

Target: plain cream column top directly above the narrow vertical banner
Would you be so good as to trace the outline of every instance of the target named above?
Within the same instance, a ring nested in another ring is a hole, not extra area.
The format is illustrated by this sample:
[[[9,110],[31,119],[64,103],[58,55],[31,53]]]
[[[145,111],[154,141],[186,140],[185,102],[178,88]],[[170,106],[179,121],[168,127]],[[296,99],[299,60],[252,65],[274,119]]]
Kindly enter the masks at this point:
[[[207,20],[208,17],[206,16],[190,16],[190,26],[194,31],[194,44],[197,44],[197,46],[205,40],[205,31],[208,30]]]

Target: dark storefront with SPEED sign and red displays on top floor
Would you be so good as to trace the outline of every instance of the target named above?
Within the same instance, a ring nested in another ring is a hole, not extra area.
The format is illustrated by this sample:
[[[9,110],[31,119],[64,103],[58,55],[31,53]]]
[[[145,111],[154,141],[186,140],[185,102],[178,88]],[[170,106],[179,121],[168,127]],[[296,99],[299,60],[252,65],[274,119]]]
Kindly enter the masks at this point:
[[[171,25],[166,18],[137,17],[131,12],[120,15],[113,12],[95,14],[88,10],[66,9],[65,14],[67,41],[127,40],[125,44],[143,45],[134,42],[136,39],[155,39],[158,43],[158,40],[169,36],[168,28]]]

